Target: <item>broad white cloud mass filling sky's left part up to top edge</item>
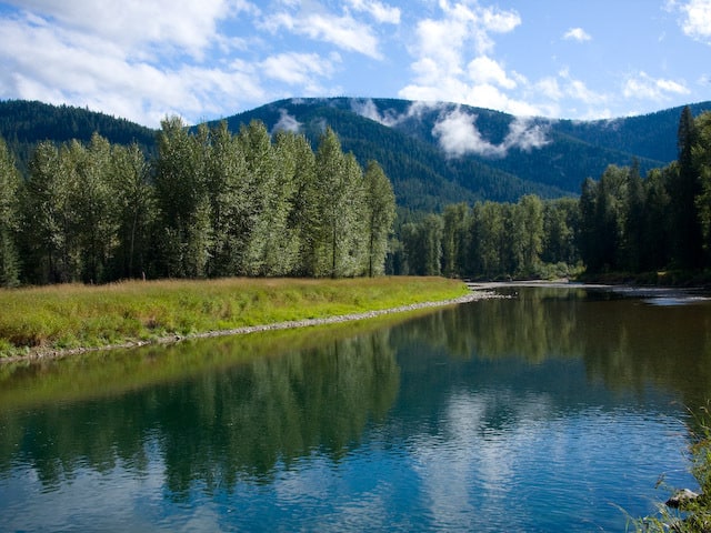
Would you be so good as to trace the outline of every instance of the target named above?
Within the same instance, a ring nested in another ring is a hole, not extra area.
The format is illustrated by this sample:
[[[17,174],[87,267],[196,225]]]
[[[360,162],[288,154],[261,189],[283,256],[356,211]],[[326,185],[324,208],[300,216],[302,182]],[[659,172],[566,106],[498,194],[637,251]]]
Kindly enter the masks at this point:
[[[88,107],[158,127],[167,114],[194,123],[296,91],[340,91],[324,86],[338,53],[260,57],[269,47],[259,36],[222,27],[228,19],[232,30],[253,24],[253,17],[259,8],[244,0],[27,0],[0,19],[0,98]]]

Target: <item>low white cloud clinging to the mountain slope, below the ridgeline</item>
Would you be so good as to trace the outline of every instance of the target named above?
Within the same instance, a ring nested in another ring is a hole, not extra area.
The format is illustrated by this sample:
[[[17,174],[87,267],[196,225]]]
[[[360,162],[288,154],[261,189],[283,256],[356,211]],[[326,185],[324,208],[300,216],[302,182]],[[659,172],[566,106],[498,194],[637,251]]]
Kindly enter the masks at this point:
[[[490,158],[503,158],[509,150],[530,151],[548,144],[545,129],[528,119],[514,119],[509,124],[509,132],[500,144],[484,139],[477,128],[477,115],[470,114],[461,107],[439,118],[432,134],[438,138],[440,147],[450,157],[462,157],[468,153]]]

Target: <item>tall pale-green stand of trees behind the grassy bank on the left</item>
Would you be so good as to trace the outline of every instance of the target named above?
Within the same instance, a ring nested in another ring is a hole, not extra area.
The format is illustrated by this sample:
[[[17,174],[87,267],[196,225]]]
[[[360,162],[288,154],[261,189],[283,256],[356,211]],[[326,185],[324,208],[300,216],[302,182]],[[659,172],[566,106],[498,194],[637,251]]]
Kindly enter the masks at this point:
[[[161,123],[157,153],[99,134],[41,142],[22,179],[0,141],[0,285],[384,270],[394,194],[329,128]]]

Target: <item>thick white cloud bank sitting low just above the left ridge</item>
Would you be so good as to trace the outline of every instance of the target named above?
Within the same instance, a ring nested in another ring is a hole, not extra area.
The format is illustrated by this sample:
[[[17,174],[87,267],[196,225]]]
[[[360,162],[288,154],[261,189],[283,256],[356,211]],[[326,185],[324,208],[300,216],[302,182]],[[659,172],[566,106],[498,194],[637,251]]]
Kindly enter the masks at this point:
[[[0,98],[87,105],[153,127],[166,114],[194,121],[266,94],[244,62],[167,69],[97,36],[28,20],[0,21]]]

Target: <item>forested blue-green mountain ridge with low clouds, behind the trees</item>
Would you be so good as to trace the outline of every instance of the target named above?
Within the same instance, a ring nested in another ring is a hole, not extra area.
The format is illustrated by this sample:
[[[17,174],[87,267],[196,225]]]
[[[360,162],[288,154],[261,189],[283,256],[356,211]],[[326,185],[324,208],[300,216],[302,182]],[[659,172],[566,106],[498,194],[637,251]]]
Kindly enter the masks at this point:
[[[374,159],[392,180],[400,207],[432,211],[452,202],[515,201],[574,195],[609,164],[640,170],[677,158],[682,108],[613,120],[520,118],[454,103],[398,99],[280,100],[228,117],[239,131],[261,120],[270,131],[302,132],[316,147],[327,125],[361,164]],[[694,115],[711,102],[691,105]],[[156,130],[81,108],[20,100],[0,102],[0,135],[20,167],[42,140],[88,141],[97,131],[113,143],[154,150]]]

